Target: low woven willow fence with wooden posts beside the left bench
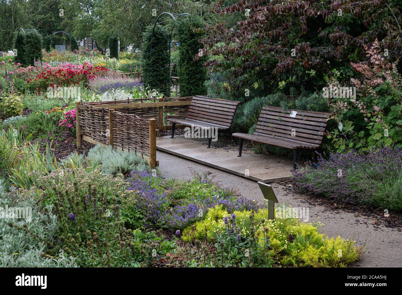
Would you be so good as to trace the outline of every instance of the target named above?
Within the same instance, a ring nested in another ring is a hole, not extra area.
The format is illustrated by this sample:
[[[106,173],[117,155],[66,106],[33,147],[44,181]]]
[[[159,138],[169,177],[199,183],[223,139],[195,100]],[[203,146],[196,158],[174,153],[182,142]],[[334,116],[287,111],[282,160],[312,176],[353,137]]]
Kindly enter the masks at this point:
[[[158,166],[156,136],[172,128],[164,125],[166,119],[184,118],[190,102],[191,97],[76,102],[77,147],[82,140],[109,144],[135,152],[154,168]]]

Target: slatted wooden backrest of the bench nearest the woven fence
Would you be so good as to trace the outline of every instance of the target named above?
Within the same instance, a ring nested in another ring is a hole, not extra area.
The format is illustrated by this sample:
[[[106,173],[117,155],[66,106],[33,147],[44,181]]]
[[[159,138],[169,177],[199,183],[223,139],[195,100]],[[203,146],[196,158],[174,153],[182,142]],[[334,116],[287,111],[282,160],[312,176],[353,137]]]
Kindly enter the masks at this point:
[[[240,102],[194,96],[186,118],[230,127]]]

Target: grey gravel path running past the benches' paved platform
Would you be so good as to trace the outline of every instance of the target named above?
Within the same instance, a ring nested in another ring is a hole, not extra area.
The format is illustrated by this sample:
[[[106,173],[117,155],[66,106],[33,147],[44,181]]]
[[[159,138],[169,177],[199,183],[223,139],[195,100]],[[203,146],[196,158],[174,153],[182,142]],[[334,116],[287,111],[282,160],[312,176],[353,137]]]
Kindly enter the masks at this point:
[[[263,199],[255,181],[161,151],[157,151],[156,159],[159,160],[159,168],[166,177],[189,179],[192,167],[199,173],[209,171],[222,186],[236,187],[239,193],[246,198],[257,201]],[[306,201],[308,196],[289,193],[283,186],[276,183],[273,184],[273,189],[280,203],[286,203],[292,207],[309,208],[310,222],[322,222],[324,226],[320,228],[320,231],[327,236],[339,235],[342,238],[352,238],[359,245],[365,243],[366,252],[361,260],[352,264],[353,267],[402,267],[402,232],[398,229],[372,225],[369,217],[354,212],[312,205]]]

